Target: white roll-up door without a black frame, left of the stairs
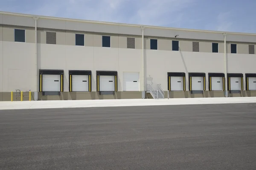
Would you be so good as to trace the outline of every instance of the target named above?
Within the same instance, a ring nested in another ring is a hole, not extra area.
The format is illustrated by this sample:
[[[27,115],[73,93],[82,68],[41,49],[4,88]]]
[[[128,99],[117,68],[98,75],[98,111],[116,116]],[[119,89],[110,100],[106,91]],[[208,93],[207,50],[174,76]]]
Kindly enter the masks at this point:
[[[124,72],[123,79],[123,91],[140,91],[139,72]]]

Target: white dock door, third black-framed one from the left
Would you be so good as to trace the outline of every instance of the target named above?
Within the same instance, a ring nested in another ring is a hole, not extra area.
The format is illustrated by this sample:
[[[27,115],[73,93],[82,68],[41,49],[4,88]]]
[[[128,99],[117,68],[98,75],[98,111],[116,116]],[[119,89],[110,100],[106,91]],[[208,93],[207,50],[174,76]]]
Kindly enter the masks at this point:
[[[99,76],[99,91],[115,91],[115,76]]]

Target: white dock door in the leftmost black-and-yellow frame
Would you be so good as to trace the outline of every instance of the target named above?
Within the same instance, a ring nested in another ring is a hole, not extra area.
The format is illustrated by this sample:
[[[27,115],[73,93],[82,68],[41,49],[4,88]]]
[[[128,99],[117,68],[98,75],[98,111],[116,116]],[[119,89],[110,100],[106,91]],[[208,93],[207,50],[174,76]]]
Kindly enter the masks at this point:
[[[43,74],[43,91],[61,91],[61,76]]]

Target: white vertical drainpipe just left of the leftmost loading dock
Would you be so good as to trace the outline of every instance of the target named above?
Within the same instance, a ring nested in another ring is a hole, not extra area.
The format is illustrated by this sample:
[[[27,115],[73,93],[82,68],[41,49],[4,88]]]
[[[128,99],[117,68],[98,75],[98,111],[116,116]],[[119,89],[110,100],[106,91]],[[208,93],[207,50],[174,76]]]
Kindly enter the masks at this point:
[[[37,20],[38,17],[33,17],[35,20],[35,92],[34,100],[38,100],[38,65],[37,65]]]

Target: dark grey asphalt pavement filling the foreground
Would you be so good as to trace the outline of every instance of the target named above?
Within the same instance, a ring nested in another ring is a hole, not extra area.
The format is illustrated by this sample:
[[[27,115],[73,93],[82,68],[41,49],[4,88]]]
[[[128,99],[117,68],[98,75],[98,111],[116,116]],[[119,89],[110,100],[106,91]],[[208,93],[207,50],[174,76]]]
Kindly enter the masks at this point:
[[[255,103],[0,111],[0,170],[255,167]]]

